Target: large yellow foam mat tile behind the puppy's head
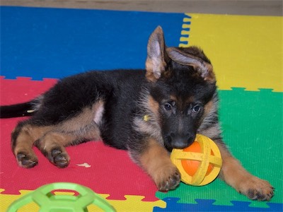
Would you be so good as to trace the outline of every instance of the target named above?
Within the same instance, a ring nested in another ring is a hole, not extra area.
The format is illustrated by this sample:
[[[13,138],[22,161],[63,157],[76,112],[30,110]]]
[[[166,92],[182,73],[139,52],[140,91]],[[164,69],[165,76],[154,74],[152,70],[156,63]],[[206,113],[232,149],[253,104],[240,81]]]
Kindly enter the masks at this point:
[[[283,17],[185,16],[180,47],[197,45],[204,49],[214,66],[219,89],[283,91]]]

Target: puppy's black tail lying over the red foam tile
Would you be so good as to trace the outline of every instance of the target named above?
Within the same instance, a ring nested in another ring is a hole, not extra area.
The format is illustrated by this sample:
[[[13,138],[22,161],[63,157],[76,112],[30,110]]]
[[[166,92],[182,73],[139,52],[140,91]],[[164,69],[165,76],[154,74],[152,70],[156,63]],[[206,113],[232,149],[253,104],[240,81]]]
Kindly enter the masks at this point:
[[[31,116],[35,112],[35,100],[16,105],[0,106],[0,118]]]

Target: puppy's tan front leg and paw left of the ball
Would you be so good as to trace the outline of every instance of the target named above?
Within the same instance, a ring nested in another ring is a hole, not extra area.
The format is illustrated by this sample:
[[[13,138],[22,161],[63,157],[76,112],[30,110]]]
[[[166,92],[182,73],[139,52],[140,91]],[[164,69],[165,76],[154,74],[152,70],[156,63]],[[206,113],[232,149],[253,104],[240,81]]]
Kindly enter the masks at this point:
[[[168,151],[154,139],[148,139],[142,150],[129,153],[154,179],[160,191],[175,189],[180,184],[180,172],[171,162]]]

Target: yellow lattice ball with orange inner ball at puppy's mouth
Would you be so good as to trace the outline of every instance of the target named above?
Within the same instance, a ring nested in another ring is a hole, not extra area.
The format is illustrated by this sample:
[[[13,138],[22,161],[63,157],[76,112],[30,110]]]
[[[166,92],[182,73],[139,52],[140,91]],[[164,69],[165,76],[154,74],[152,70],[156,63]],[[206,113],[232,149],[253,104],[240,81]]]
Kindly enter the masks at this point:
[[[185,184],[202,186],[212,182],[221,170],[222,158],[216,143],[197,134],[195,141],[184,149],[173,149],[172,162],[181,173]]]

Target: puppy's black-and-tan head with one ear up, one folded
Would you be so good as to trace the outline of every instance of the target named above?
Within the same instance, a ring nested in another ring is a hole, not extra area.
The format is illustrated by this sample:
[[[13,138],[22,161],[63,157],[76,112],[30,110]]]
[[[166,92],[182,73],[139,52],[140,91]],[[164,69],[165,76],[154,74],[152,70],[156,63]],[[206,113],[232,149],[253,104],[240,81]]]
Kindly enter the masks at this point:
[[[164,145],[168,150],[190,146],[215,104],[212,64],[197,47],[166,47],[160,27],[151,34],[147,53],[152,112],[158,117]]]

